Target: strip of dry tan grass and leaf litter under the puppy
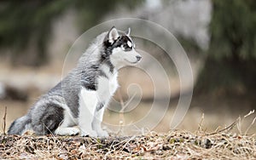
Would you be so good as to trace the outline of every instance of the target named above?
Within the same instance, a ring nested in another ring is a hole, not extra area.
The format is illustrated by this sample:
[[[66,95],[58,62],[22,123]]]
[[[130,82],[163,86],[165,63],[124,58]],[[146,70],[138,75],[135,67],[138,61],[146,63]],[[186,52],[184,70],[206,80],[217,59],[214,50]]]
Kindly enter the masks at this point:
[[[170,131],[130,137],[1,135],[0,158],[11,159],[255,159],[253,135]]]

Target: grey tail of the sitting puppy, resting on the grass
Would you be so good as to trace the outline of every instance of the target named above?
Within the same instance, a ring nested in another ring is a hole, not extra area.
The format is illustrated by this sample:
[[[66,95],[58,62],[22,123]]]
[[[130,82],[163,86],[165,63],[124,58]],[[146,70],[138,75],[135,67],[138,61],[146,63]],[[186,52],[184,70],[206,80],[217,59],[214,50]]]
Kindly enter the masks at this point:
[[[20,117],[13,122],[8,130],[8,134],[23,134],[27,129],[31,128],[31,117],[28,115]]]

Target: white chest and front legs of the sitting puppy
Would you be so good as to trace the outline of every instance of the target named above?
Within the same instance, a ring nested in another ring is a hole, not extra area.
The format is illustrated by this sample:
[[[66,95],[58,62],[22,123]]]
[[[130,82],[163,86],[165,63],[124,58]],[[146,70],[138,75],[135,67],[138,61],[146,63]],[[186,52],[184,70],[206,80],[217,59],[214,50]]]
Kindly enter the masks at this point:
[[[79,94],[79,128],[81,135],[107,136],[101,128],[104,109],[96,109],[99,104],[107,106],[109,100],[118,88],[117,72],[108,72],[106,76],[97,77],[96,90],[81,89]]]

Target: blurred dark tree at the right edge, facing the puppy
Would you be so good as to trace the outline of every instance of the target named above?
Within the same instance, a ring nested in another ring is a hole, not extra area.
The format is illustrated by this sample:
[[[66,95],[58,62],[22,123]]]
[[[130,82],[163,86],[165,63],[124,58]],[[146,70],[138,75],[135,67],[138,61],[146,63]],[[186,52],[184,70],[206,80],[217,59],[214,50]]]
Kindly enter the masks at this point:
[[[195,94],[256,94],[256,3],[214,0],[207,60]]]

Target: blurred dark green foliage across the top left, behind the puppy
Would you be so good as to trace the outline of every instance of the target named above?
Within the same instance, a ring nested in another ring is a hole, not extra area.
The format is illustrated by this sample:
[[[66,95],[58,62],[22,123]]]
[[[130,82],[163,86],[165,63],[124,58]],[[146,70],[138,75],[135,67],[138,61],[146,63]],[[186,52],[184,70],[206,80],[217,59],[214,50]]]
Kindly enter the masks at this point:
[[[51,24],[55,18],[68,9],[77,11],[78,26],[82,31],[96,25],[102,16],[119,4],[134,8],[143,1],[136,0],[39,0],[0,3],[0,47],[13,49],[15,54],[24,54],[23,49],[31,41],[38,50],[38,63],[44,62],[46,42],[49,40]],[[75,29],[75,28],[74,28]]]

